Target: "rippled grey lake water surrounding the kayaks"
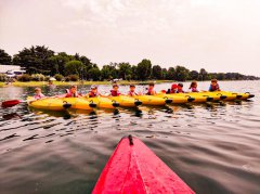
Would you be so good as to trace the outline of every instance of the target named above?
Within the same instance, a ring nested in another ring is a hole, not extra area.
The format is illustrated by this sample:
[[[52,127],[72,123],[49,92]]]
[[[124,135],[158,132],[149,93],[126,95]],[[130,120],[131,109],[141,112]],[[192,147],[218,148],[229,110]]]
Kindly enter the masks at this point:
[[[198,85],[206,90],[209,82]],[[260,81],[222,81],[220,86],[256,96],[243,102],[94,113],[42,112],[23,103],[0,108],[0,193],[91,193],[118,141],[132,134],[196,193],[259,194]],[[156,89],[169,87],[161,83]],[[56,94],[64,89],[46,87],[43,92]],[[79,89],[83,92],[89,86]],[[100,90],[108,91],[109,86]],[[0,88],[0,101],[25,99],[32,91]]]

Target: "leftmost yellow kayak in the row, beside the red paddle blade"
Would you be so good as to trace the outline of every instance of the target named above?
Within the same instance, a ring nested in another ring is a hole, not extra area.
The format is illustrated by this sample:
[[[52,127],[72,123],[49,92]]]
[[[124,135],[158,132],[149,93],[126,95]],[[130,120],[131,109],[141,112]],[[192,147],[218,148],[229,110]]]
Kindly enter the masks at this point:
[[[28,106],[39,108],[39,109],[51,109],[51,111],[64,111],[72,106],[72,104],[64,102],[61,99],[39,99],[35,100],[32,96],[27,98]]]

